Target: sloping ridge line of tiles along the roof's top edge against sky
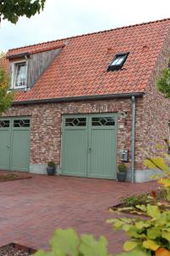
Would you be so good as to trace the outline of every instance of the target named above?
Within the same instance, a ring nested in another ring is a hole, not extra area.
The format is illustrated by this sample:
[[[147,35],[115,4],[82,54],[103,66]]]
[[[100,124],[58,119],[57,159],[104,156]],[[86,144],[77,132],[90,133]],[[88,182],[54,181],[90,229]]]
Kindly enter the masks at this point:
[[[68,38],[60,38],[60,39],[47,41],[47,42],[42,42],[42,43],[38,43],[38,44],[29,44],[29,45],[26,45],[26,46],[20,46],[20,47],[8,49],[8,51],[12,51],[14,49],[24,49],[24,48],[31,47],[31,46],[36,46],[36,45],[41,46],[42,44],[50,44],[50,43],[55,43],[55,42],[57,43],[57,42],[65,41],[65,40],[72,39],[72,38],[81,38],[81,37],[86,37],[88,35],[95,35],[95,34],[99,34],[99,33],[111,32],[111,31],[114,31],[114,30],[121,30],[121,29],[124,29],[124,28],[127,28],[127,27],[133,27],[133,26],[143,26],[143,25],[163,22],[163,21],[167,21],[167,20],[170,20],[170,18],[165,18],[165,19],[161,19],[161,20],[154,20],[154,21],[147,21],[147,22],[137,23],[137,24],[128,25],[128,26],[120,26],[120,27],[106,29],[106,30],[98,31],[98,32],[89,32],[87,34],[81,34],[81,35],[72,36],[72,37],[68,37]]]

